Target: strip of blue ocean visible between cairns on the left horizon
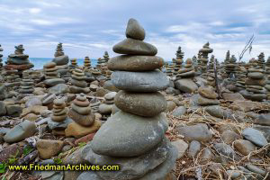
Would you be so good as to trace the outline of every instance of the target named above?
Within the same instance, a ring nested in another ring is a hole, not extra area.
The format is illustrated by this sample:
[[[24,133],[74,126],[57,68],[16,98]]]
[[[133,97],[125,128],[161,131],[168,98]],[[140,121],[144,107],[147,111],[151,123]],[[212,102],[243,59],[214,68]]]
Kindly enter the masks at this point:
[[[30,62],[34,64],[33,69],[42,69],[43,65],[51,62],[52,58],[29,58]],[[3,58],[3,63],[6,61],[6,58]],[[84,65],[84,58],[76,58],[76,63],[78,66]],[[70,64],[70,58],[69,58],[69,64]],[[91,58],[91,66],[95,67],[97,64],[97,59]]]

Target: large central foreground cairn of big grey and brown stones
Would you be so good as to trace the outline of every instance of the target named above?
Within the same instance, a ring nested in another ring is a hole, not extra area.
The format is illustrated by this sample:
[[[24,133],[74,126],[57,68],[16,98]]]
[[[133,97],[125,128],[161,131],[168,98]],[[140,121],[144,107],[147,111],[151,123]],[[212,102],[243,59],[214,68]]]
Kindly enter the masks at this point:
[[[145,31],[136,20],[130,19],[126,37],[126,40],[113,47],[114,52],[125,54],[115,57],[115,61],[122,58],[123,61],[129,61],[133,56],[154,58],[157,54],[154,46],[143,41]],[[137,95],[146,98],[153,96],[154,99],[154,96],[159,96],[157,91],[165,89],[169,84],[166,75],[155,70],[156,66],[148,67],[144,72],[134,70],[134,67],[144,68],[145,62],[137,60],[130,68],[117,67],[121,71],[112,73],[112,83],[121,89],[115,96],[115,101],[130,101],[133,105],[126,109],[120,105],[121,111],[113,114],[84,148],[82,157],[92,165],[116,163],[121,166],[115,172],[91,172],[95,179],[165,179],[175,165],[177,150],[165,138],[168,124],[166,115],[162,112],[164,107],[150,115],[139,111],[142,107],[151,108],[147,101],[138,103]],[[132,111],[129,108],[135,109]],[[77,179],[83,179],[85,175],[88,172],[82,173]]]

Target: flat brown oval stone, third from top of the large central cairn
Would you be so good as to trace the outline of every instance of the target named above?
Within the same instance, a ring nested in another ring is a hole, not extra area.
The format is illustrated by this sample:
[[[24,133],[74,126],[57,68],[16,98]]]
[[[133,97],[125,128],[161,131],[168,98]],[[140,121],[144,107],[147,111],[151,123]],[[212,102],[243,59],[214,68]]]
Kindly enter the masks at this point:
[[[164,65],[163,58],[157,56],[130,56],[122,55],[110,58],[108,68],[110,70],[124,71],[148,71]]]

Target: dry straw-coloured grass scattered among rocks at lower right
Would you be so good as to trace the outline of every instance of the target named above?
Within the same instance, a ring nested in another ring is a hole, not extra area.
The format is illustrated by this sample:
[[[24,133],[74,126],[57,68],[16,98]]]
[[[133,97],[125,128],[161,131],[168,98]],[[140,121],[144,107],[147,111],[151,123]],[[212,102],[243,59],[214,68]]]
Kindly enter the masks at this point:
[[[189,103],[186,103],[185,106],[188,107]],[[220,106],[228,107],[229,103],[222,102]],[[222,166],[224,168],[220,169],[218,173],[213,173],[209,168],[214,162],[218,162],[218,159],[212,158],[211,161],[203,161],[200,158],[203,148],[210,148],[213,157],[223,156],[220,155],[213,147],[213,144],[215,142],[222,142],[222,139],[220,138],[220,132],[218,131],[220,127],[228,124],[232,125],[238,130],[238,133],[240,134],[242,130],[252,125],[252,123],[250,122],[238,122],[231,120],[216,121],[217,119],[211,117],[207,112],[204,112],[203,108],[199,108],[196,111],[189,113],[188,115],[183,115],[181,116],[181,118],[176,118],[170,113],[167,113],[167,119],[169,121],[169,129],[166,132],[166,136],[171,141],[184,138],[182,135],[179,135],[175,130],[175,127],[178,125],[185,126],[203,122],[208,124],[211,132],[213,133],[213,138],[210,142],[202,143],[201,151],[199,152],[197,157],[189,158],[184,155],[184,157],[176,161],[174,174],[177,179],[187,179],[187,177],[195,177],[196,179],[230,179],[229,175],[227,175],[226,173],[226,170],[236,170],[238,169],[238,166],[245,166],[248,162],[250,163],[257,158],[260,160],[258,162],[252,162],[253,165],[260,166],[264,169],[270,166],[270,157],[266,156],[266,151],[267,149],[269,149],[270,144],[266,145],[266,147],[259,148],[251,152],[248,156],[241,155],[235,149],[238,158],[230,159],[228,163],[222,163]],[[253,175],[254,178],[257,179],[255,174],[251,175]],[[268,176],[268,174],[266,176]],[[265,177],[265,179],[267,178],[269,177]]]

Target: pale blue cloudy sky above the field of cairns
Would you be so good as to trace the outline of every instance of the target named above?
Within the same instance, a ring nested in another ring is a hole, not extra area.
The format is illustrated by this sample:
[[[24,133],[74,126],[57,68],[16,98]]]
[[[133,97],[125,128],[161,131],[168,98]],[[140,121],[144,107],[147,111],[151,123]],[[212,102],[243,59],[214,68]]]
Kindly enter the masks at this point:
[[[228,49],[238,57],[253,33],[245,59],[270,56],[269,0],[0,0],[0,44],[5,57],[23,43],[32,58],[51,58],[58,41],[70,58],[112,57],[130,17],[166,60],[178,46],[191,58],[207,41],[219,60]]]

